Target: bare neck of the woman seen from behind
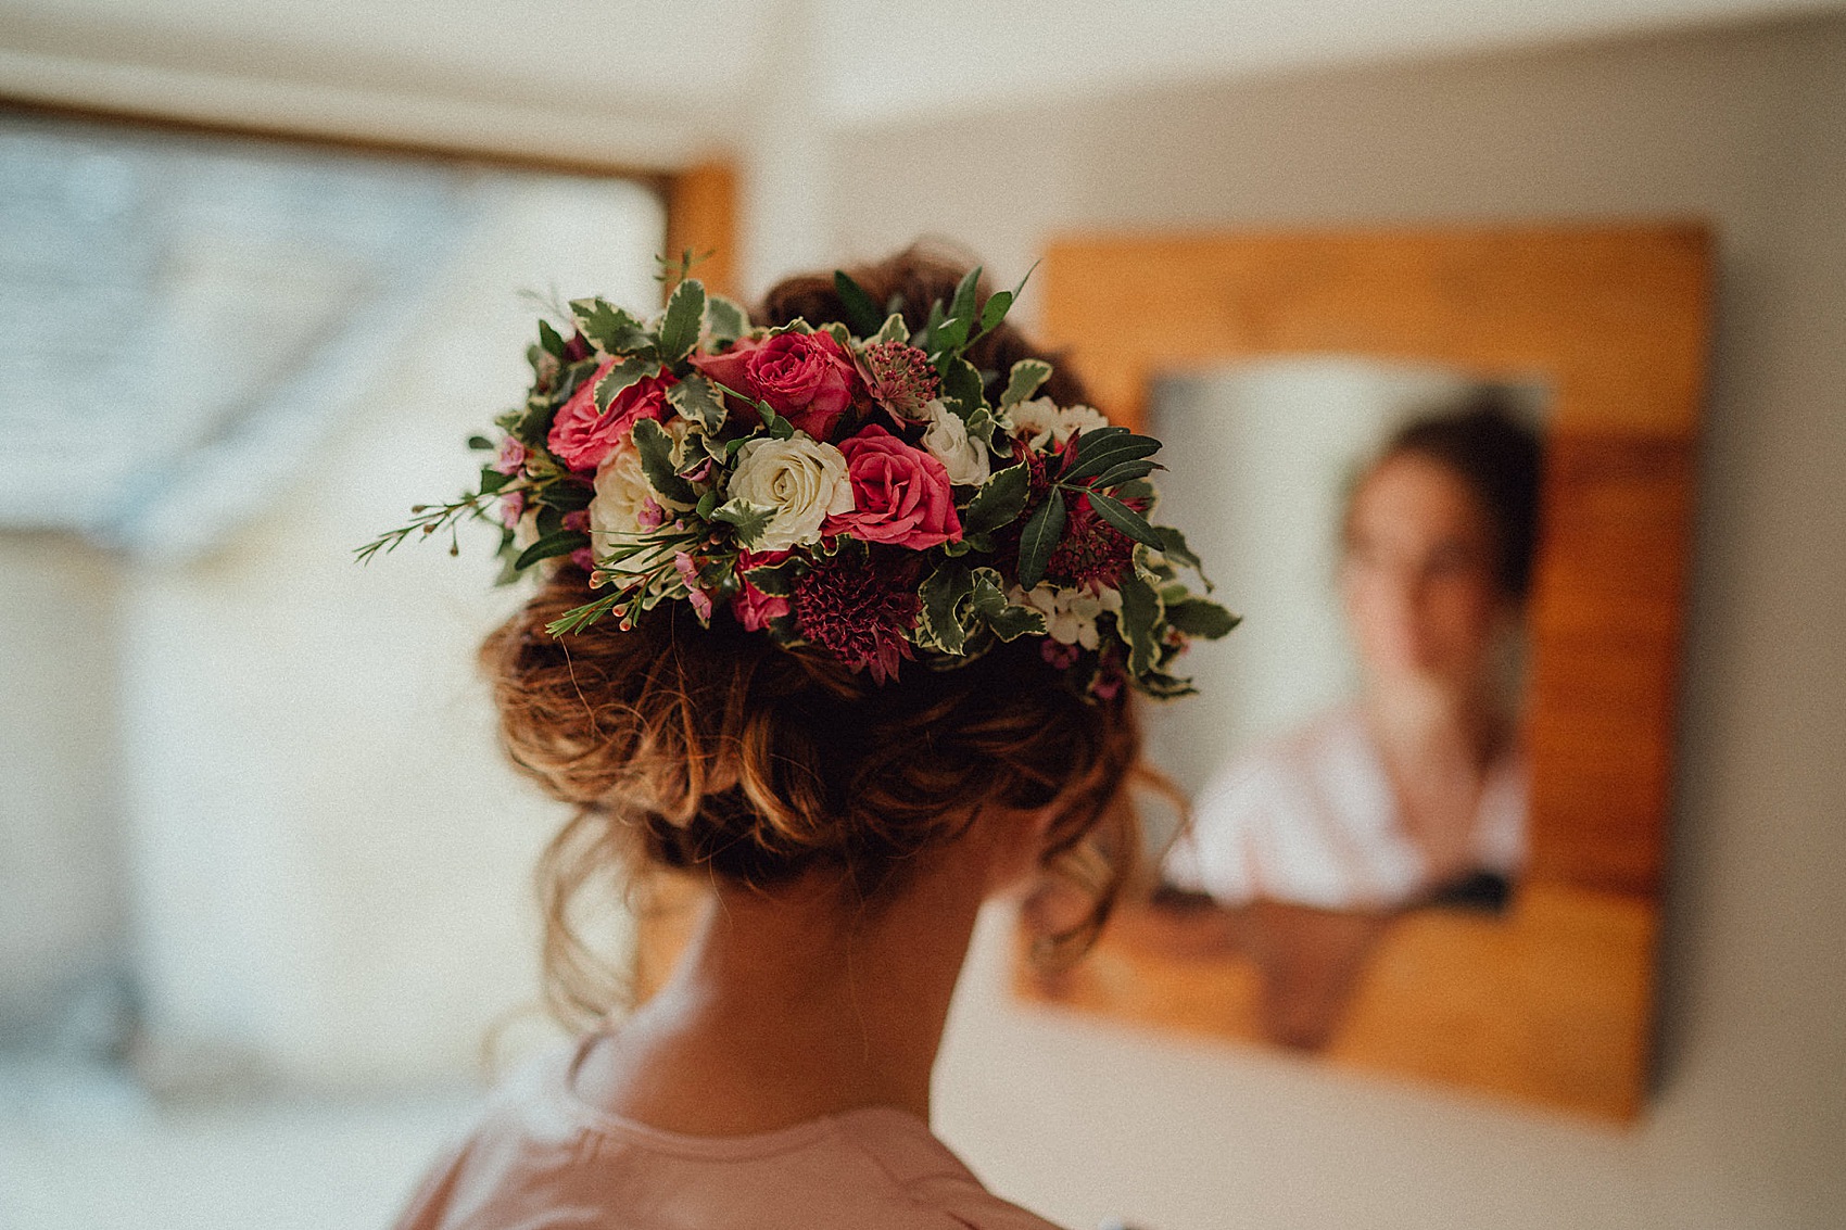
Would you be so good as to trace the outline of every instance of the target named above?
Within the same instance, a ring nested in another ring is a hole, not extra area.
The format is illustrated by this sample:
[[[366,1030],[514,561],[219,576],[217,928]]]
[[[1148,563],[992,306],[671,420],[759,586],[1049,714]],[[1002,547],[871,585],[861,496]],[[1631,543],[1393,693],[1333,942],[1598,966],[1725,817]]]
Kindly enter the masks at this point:
[[[720,888],[661,992],[585,1056],[578,1093],[694,1136],[879,1104],[927,1119],[986,881],[971,833],[919,855],[873,905],[818,874]]]

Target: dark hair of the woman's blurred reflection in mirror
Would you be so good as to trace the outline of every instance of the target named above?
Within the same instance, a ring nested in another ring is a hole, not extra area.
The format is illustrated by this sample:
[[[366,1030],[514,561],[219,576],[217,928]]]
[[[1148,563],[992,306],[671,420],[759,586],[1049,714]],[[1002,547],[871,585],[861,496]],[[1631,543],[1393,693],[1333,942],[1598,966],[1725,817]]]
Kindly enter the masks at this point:
[[[1349,488],[1348,519],[1351,495],[1364,478],[1399,456],[1436,462],[1473,491],[1493,534],[1493,582],[1514,602],[1525,602],[1538,554],[1543,443],[1510,408],[1506,395],[1493,388],[1477,390],[1451,408],[1399,427]]]

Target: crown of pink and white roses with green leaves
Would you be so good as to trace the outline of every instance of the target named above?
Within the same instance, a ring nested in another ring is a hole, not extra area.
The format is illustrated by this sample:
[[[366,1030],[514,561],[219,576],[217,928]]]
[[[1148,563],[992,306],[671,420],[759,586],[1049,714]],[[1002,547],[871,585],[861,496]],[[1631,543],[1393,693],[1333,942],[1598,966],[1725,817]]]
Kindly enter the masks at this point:
[[[978,277],[917,334],[845,273],[851,329],[751,329],[683,268],[652,321],[576,299],[572,336],[539,321],[500,438],[469,441],[495,452],[480,486],[358,556],[498,519],[502,580],[569,556],[607,591],[552,635],[689,602],[879,683],[903,659],[954,667],[1039,637],[1084,693],[1193,691],[1174,657],[1237,619],[1180,580],[1211,589],[1185,537],[1146,521],[1159,441],[1036,397],[1047,362],[977,371],[964,355],[1019,294],[980,303]]]

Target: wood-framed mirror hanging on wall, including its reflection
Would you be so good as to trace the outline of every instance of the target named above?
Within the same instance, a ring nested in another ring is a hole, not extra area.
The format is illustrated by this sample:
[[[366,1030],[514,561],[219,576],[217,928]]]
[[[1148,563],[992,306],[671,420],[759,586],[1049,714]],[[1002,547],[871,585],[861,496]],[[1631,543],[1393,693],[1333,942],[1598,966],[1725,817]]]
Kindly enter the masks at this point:
[[[1019,994],[1634,1115],[1704,233],[1073,238],[1045,284],[1246,622],[1146,711],[1191,827]]]

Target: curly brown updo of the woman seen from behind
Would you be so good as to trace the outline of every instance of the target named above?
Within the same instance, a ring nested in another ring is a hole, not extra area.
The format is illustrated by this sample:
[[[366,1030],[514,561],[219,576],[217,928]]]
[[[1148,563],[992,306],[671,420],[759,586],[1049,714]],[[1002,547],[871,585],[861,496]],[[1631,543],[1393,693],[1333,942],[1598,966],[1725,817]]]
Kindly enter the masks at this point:
[[[912,329],[962,275],[917,249],[849,271]],[[831,277],[781,283],[759,323],[796,316],[845,320]],[[1001,325],[967,356],[1004,379],[1041,353]],[[1050,397],[1082,401],[1071,373],[1052,380]],[[906,663],[901,680],[879,685],[827,654],[744,632],[727,613],[701,626],[683,602],[626,632],[604,622],[548,635],[546,622],[589,600],[587,585],[581,569],[557,567],[482,646],[511,759],[578,809],[539,866],[546,999],[567,1023],[624,994],[578,935],[576,899],[663,868],[755,888],[829,868],[875,907],[914,855],[954,840],[980,807],[1050,807],[1043,864],[1095,894],[1061,947],[1087,944],[1108,916],[1139,846],[1124,792],[1139,759],[1126,689],[1080,696],[1036,637],[951,670]]]

